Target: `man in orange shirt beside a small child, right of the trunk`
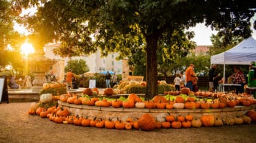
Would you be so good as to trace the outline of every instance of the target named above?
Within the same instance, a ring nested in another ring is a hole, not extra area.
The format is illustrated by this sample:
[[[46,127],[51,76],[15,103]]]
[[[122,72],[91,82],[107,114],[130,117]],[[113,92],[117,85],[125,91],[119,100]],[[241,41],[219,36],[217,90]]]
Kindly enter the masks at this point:
[[[190,66],[185,70],[185,81],[187,83],[186,87],[190,88],[190,91],[193,91],[193,81],[196,77],[196,73],[194,73],[194,64],[190,64]]]

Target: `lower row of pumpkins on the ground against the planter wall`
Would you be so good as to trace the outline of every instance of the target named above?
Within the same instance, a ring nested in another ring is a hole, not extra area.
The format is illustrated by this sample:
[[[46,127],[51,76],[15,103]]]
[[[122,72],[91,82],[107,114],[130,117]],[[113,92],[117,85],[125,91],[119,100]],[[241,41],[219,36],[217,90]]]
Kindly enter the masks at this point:
[[[32,103],[30,115],[39,115],[41,118],[60,124],[75,124],[77,126],[91,126],[106,129],[140,129],[143,131],[152,131],[154,129],[180,129],[201,126],[222,126],[234,124],[250,124],[256,122],[256,111],[250,110],[246,115],[236,118],[216,118],[214,115],[201,115],[201,118],[194,118],[193,115],[171,115],[168,113],[165,120],[159,121],[156,117],[145,113],[138,119],[126,118],[126,120],[118,120],[118,118],[102,119],[97,117],[80,117],[79,115],[70,115],[67,109],[62,107],[49,107],[44,109],[39,107],[39,104]]]

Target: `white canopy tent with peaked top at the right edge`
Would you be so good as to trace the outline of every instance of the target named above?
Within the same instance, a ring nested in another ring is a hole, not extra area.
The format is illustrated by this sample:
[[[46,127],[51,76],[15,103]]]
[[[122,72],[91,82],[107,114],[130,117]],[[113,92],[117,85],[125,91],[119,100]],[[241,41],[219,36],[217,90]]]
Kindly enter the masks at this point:
[[[250,65],[251,61],[256,61],[256,41],[251,37],[230,50],[210,57],[211,65],[223,65],[224,79],[226,65]]]

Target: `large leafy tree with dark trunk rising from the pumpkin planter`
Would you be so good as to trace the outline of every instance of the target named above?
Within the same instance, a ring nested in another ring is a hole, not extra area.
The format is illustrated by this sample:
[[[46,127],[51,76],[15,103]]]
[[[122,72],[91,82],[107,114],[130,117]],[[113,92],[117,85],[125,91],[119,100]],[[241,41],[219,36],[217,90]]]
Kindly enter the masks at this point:
[[[29,4],[28,0],[22,2]],[[56,53],[64,56],[89,54],[98,47],[102,55],[119,51],[127,56],[133,48],[144,44],[145,99],[149,100],[158,94],[156,52],[159,41],[168,41],[166,34],[205,22],[227,37],[237,34],[247,38],[255,3],[254,0],[51,0],[41,1],[36,16],[28,22],[39,37],[45,36],[42,39],[45,42],[62,41]],[[91,41],[91,34],[95,35],[95,42]]]

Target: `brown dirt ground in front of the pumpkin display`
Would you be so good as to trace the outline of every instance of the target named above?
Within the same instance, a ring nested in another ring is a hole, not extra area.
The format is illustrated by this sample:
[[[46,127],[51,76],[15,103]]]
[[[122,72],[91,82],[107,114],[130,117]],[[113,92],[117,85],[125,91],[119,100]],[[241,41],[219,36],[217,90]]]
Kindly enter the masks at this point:
[[[256,142],[256,124],[154,131],[56,124],[28,115],[31,102],[0,104],[0,142]]]

